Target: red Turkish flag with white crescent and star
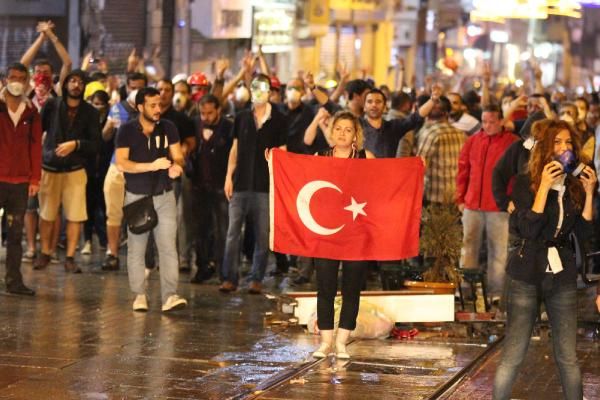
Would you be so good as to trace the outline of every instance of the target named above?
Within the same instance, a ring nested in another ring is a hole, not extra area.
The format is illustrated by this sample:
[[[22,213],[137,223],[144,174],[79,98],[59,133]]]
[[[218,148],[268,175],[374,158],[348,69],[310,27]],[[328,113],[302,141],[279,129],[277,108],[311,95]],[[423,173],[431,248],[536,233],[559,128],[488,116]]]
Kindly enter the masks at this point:
[[[421,159],[341,159],[274,149],[269,171],[271,250],[378,261],[419,253]]]

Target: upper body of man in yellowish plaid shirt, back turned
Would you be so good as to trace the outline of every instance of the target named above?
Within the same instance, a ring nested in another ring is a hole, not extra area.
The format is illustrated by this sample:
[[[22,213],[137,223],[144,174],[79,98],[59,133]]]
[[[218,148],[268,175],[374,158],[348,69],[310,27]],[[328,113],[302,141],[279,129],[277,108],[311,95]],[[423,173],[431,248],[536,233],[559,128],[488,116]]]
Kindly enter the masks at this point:
[[[467,138],[448,122],[447,97],[435,102],[425,126],[419,131],[417,156],[425,160],[425,204],[451,203],[456,191],[458,157]]]

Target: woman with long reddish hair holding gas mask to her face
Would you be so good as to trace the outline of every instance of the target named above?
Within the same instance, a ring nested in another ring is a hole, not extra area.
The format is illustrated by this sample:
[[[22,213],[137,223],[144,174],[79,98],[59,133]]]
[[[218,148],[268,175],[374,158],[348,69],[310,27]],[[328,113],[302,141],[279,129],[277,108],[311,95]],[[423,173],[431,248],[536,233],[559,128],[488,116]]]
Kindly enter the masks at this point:
[[[534,124],[532,134],[536,144],[529,171],[517,177],[512,194],[516,209],[510,217],[510,229],[520,245],[510,254],[507,266],[508,320],[493,398],[510,398],[543,301],[552,327],[563,395],[581,400],[581,372],[575,352],[577,269],[569,235],[574,232],[585,240],[592,234],[597,179],[569,124],[541,120]],[[583,165],[579,167],[580,163]]]

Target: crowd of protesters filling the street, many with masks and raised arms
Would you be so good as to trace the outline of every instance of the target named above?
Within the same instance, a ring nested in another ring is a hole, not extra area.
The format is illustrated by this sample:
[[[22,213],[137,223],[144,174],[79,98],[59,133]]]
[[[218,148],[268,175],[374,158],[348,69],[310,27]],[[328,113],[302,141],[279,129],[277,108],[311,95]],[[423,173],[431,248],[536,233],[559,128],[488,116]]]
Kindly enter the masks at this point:
[[[513,351],[526,350],[523,338],[534,322],[535,293],[546,301],[553,325],[562,326],[566,312],[554,306],[556,296],[563,296],[557,288],[571,290],[577,274],[569,261],[568,234],[574,231],[584,241],[597,241],[598,235],[590,222],[592,208],[600,205],[593,200],[594,170],[600,168],[600,99],[594,90],[575,96],[544,88],[537,67],[531,83],[502,85],[487,65],[479,76],[428,76],[423,87],[407,87],[402,62],[395,92],[366,76],[351,79],[343,66],[333,89],[310,72],[283,84],[260,51],[247,52],[232,72],[228,60],[218,60],[212,74],[172,79],[162,68],[147,68],[135,50],[121,73],[109,71],[106,61],[91,53],[72,69],[53,28],[51,21],[38,24],[38,37],[7,68],[0,92],[8,292],[33,295],[23,283],[22,261],[44,270],[58,262],[56,249],[63,242],[65,271],[80,273],[77,250],[90,254],[96,235],[106,248],[105,271],[120,269],[119,247],[127,240],[136,311],[148,309],[144,282],[158,265],[163,311],[186,305],[177,282],[180,270],[194,262],[193,283],[217,274],[221,292],[236,291],[241,253],[252,264],[248,291],[258,294],[269,257],[268,150],[343,158],[417,156],[426,165],[423,204],[454,204],[462,213],[461,267],[487,270],[490,302],[497,305],[504,296],[509,332],[514,324],[523,330],[515,334],[521,346]],[[58,74],[48,60],[36,59],[44,41],[62,61]],[[561,161],[566,153],[572,159]],[[568,170],[575,161],[584,166]],[[123,207],[145,197],[152,199],[158,222],[145,233],[132,233]],[[483,243],[487,262],[481,267]],[[275,258],[280,274],[297,261],[294,255]],[[348,278],[337,341],[342,356],[355,326],[363,264],[368,263],[343,266]],[[310,281],[315,265],[323,332],[315,355],[324,356],[333,341],[339,262],[305,262],[294,281]],[[533,305],[527,323],[521,323],[517,315],[525,317],[515,307],[525,297]],[[597,304],[600,310],[600,295]],[[576,315],[575,309],[568,313]],[[521,360],[504,358],[500,370],[512,371]],[[576,381],[562,362],[563,384]],[[511,373],[498,378],[502,393],[510,391]]]

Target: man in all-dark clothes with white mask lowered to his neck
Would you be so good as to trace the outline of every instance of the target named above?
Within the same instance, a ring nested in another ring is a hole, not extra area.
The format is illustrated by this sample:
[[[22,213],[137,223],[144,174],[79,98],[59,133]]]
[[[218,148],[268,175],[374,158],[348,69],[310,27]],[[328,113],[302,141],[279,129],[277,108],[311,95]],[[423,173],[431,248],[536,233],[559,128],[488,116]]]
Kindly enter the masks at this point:
[[[196,265],[192,283],[202,283],[220,269],[227,232],[227,199],[223,193],[227,159],[233,143],[233,123],[221,115],[219,99],[208,94],[200,100],[198,149],[190,156],[192,215],[195,225]]]

